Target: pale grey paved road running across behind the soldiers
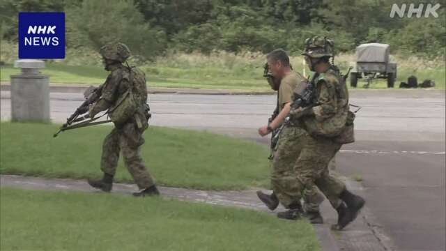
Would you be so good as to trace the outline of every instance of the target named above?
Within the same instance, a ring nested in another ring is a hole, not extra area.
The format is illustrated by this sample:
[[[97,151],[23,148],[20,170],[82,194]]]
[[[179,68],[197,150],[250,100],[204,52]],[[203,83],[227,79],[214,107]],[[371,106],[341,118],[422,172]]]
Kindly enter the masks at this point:
[[[362,107],[355,127],[358,139],[438,141],[445,132],[445,96],[438,91],[356,92],[351,102]],[[1,91],[1,119],[10,119],[10,93]],[[256,137],[274,109],[275,96],[153,94],[154,126],[202,128]],[[64,122],[82,103],[80,93],[52,93],[51,117]],[[429,126],[426,123],[429,122]],[[364,132],[364,133],[363,133]]]

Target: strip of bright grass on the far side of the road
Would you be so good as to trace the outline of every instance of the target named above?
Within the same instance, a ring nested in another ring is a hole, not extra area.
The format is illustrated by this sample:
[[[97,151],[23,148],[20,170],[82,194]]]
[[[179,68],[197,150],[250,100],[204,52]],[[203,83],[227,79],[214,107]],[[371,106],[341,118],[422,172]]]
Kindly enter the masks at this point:
[[[151,87],[192,88],[192,89],[228,89],[270,91],[268,84],[263,79],[263,68],[246,65],[245,68],[224,68],[217,66],[141,66],[148,77],[148,85]],[[10,75],[20,72],[13,66],[6,65],[0,68],[1,81],[10,81]],[[341,69],[346,73],[346,69]],[[102,84],[107,77],[107,72],[98,66],[65,66],[58,63],[47,63],[42,70],[50,76],[52,83],[66,84]],[[418,82],[424,79],[434,79],[436,89],[445,89],[445,68],[430,68],[414,70],[408,67],[398,68],[398,76],[394,88],[399,87],[400,82],[407,82],[410,75],[417,76]],[[359,79],[358,89],[366,82]],[[350,81],[347,79],[350,86]],[[385,79],[377,79],[372,82],[370,89],[387,89]]]

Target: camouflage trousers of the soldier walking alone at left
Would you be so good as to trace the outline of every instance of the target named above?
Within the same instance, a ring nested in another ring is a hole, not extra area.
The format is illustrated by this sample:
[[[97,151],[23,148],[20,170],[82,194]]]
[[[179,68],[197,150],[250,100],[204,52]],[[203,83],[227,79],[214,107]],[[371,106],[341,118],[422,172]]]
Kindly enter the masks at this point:
[[[132,175],[139,189],[155,185],[153,178],[147,172],[140,152],[144,144],[142,131],[134,123],[125,123],[120,128],[114,128],[102,144],[100,169],[105,174],[114,176],[118,167],[119,153],[122,152],[125,167]]]

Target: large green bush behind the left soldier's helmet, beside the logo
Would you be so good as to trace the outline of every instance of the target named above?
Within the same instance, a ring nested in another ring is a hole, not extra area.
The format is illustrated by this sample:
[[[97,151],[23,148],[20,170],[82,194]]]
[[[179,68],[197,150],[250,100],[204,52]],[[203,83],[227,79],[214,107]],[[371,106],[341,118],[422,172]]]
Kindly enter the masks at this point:
[[[164,31],[151,28],[130,0],[84,1],[66,10],[67,38],[70,47],[92,47],[122,42],[135,57],[153,58],[164,52]]]

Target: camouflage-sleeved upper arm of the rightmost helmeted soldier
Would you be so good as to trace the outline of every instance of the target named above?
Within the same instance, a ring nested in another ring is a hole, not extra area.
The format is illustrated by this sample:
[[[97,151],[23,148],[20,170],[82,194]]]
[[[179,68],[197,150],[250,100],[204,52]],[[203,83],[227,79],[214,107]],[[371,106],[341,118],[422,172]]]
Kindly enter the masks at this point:
[[[319,84],[321,84],[321,92],[317,100],[318,105],[313,107],[313,112],[316,120],[323,121],[337,112],[337,83],[332,79],[323,79]]]

